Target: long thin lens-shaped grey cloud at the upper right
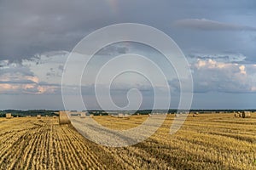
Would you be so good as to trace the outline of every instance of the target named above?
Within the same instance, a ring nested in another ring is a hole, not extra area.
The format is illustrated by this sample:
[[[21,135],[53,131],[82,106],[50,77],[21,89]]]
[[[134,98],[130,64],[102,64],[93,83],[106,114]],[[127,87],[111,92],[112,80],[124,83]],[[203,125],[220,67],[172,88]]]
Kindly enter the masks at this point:
[[[174,26],[201,31],[256,31],[256,27],[253,26],[241,26],[207,19],[176,20]]]

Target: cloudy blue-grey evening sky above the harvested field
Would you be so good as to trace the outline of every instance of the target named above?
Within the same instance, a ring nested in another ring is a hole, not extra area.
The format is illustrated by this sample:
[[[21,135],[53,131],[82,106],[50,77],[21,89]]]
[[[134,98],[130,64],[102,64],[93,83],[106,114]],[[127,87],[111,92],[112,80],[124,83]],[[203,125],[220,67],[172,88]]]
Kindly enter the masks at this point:
[[[73,48],[91,32],[119,23],[153,26],[172,37],[189,62],[192,109],[256,109],[255,20],[254,0],[0,0],[0,110],[64,109],[61,77]],[[175,70],[162,54],[137,42],[109,44],[95,54],[81,78],[86,108],[99,109],[94,88],[104,90],[108,85],[107,78],[95,82],[96,73],[110,59],[125,54],[140,54],[160,65],[171,88],[170,107],[176,108],[180,93]],[[116,68],[137,65],[158,77],[143,60],[123,61]],[[79,57],[71,64],[74,70],[78,63]],[[115,70],[106,72],[111,71]],[[140,103],[137,100],[143,98],[139,108],[150,109],[154,89],[160,87],[130,72],[113,80],[110,94],[116,105],[125,107],[127,93],[137,88],[140,96],[135,93],[131,100]],[[69,102],[71,109],[80,110],[74,88],[68,86]],[[102,100],[108,100],[104,95]]]

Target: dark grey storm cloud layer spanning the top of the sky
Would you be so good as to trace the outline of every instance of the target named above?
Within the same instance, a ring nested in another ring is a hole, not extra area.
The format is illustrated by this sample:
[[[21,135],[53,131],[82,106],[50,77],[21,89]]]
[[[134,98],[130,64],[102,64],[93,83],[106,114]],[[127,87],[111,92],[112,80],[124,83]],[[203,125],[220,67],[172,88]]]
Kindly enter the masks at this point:
[[[246,2],[219,0],[207,3],[202,0],[193,2],[167,0],[160,2],[148,0],[1,1],[0,60],[19,61],[49,51],[71,51],[74,45],[90,32],[114,23],[137,22],[155,26],[175,37],[175,40],[183,45],[184,32],[170,29],[170,23],[175,20],[191,17],[212,20],[226,17],[232,19],[233,17],[232,20],[235,20],[234,18],[240,17],[237,18],[237,22],[244,22],[241,26],[251,26],[251,23],[247,24],[250,20],[244,20],[244,18],[253,18],[253,16],[255,16],[255,1],[251,0]],[[213,39],[217,38],[213,37]],[[189,46],[194,43],[188,39],[185,41]],[[254,52],[255,50],[251,49],[250,54]]]

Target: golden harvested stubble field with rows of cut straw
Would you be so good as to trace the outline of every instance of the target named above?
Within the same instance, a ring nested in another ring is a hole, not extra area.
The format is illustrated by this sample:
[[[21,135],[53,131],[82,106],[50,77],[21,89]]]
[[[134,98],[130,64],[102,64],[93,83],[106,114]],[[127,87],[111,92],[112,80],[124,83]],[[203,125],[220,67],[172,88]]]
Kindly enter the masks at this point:
[[[105,127],[136,127],[148,116],[94,116]],[[110,148],[84,139],[53,117],[0,118],[0,169],[256,169],[256,114],[189,115],[169,134],[174,115],[142,143]]]

